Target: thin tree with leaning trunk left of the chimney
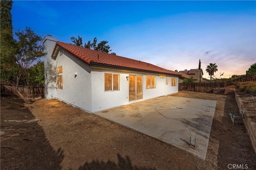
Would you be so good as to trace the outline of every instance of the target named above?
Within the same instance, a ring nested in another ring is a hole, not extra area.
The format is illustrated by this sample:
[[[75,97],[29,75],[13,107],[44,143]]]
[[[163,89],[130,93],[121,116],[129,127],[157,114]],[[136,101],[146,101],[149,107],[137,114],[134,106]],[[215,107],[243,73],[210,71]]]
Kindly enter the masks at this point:
[[[17,51],[15,55],[18,71],[16,76],[16,90],[24,102],[28,103],[26,98],[18,90],[18,85],[24,71],[34,64],[40,57],[46,55],[43,53],[42,37],[37,35],[31,28],[26,27],[25,30],[18,30],[16,33],[18,41],[16,43]]]

